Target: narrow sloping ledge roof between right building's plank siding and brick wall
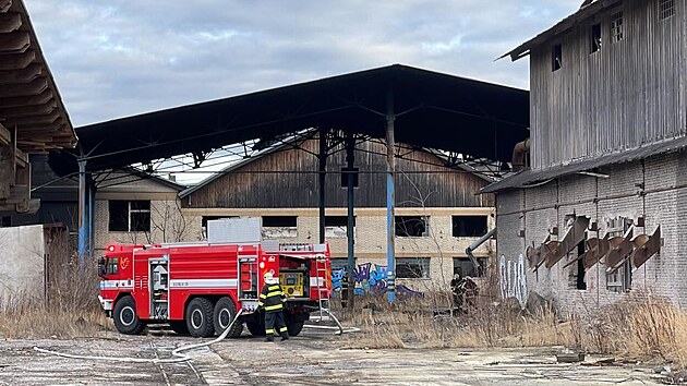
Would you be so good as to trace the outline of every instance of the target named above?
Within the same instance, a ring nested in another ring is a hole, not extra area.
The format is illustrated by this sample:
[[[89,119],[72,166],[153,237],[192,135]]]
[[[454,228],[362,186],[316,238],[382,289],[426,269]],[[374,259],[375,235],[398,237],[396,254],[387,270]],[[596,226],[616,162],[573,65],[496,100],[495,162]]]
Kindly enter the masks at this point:
[[[637,147],[630,150],[611,153],[595,158],[574,161],[567,165],[555,166],[543,170],[523,170],[507,176],[498,182],[494,182],[480,190],[480,193],[494,193],[507,189],[528,188],[538,182],[555,179],[563,176],[589,171],[602,166],[629,162],[644,159],[659,154],[678,152],[687,147],[687,137],[673,138]]]

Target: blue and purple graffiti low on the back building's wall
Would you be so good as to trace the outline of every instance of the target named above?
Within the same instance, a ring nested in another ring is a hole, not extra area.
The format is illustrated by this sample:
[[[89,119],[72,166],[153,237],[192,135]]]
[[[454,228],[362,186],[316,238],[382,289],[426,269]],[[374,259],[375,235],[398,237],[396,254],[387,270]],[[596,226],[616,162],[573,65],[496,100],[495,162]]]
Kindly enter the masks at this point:
[[[343,288],[343,281],[347,280],[347,268],[333,269],[332,270],[332,288],[334,293],[341,292]],[[381,294],[388,291],[387,287],[387,273],[388,268],[385,265],[365,263],[359,264],[357,268],[353,268],[353,280],[355,280],[354,294]],[[417,292],[410,288],[396,285],[396,293],[400,295],[422,295],[422,292]]]

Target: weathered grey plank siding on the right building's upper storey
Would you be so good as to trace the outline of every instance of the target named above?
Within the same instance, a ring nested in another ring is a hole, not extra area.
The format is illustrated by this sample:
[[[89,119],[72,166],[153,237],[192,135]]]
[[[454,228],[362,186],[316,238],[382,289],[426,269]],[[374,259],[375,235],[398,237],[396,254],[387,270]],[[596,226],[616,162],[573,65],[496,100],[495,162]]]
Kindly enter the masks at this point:
[[[611,43],[611,10],[532,50],[532,168],[685,135],[686,2],[661,21],[658,0],[625,1],[623,40]],[[590,53],[599,22],[602,49]],[[554,44],[563,45],[555,72]]]

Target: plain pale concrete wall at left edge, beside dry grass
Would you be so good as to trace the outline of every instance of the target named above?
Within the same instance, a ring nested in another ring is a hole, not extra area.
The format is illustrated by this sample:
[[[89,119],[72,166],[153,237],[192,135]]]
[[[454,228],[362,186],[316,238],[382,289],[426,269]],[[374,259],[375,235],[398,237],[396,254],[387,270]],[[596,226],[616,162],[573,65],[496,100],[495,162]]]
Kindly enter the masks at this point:
[[[22,292],[45,293],[43,226],[0,228],[0,303]]]

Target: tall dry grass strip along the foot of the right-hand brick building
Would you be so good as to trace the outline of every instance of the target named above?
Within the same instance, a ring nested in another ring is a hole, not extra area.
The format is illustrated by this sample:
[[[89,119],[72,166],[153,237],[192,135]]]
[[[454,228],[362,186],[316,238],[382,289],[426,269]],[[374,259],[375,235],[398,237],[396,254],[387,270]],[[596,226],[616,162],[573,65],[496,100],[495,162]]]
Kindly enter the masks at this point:
[[[435,316],[432,310],[438,307],[434,299],[399,301],[390,307],[383,299],[369,298],[358,302],[366,310],[341,310],[346,324],[362,328],[362,334],[348,337],[348,345],[353,348],[565,346],[687,365],[687,314],[654,297],[636,295],[565,321],[552,309],[529,313],[513,304],[487,300],[461,315]]]

